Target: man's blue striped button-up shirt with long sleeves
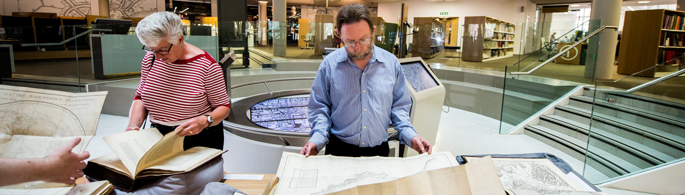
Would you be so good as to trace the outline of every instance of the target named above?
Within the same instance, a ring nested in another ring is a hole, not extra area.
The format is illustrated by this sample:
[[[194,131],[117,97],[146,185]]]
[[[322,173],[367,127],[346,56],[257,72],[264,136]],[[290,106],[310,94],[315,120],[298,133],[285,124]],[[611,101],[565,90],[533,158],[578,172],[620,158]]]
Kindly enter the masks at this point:
[[[394,125],[400,142],[410,145],[416,130],[409,121],[412,100],[395,55],[373,46],[362,71],[345,48],[330,53],[316,72],[309,99],[310,142],[321,151],[330,134],[359,147],[388,140]]]

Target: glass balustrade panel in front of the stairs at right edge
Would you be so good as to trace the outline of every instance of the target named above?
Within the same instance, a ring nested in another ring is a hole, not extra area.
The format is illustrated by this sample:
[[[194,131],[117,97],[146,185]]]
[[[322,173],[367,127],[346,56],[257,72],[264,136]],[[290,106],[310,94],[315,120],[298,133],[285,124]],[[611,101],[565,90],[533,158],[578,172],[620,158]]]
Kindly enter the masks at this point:
[[[685,56],[662,60],[641,72],[681,76],[598,81],[597,89],[614,91],[586,91],[571,100],[590,123],[584,171],[589,181],[603,183],[685,160]],[[650,82],[656,84],[626,91]]]

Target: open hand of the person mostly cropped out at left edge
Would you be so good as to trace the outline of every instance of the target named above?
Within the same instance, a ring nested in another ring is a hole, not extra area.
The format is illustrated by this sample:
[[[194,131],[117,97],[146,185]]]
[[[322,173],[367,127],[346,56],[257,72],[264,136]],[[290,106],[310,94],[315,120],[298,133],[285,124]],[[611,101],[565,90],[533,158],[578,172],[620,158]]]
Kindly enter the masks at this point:
[[[56,149],[47,157],[40,159],[43,170],[41,181],[74,184],[76,178],[83,177],[83,168],[86,168],[84,160],[90,157],[88,151],[73,153],[71,150],[81,142],[81,138],[74,138],[63,147]]]

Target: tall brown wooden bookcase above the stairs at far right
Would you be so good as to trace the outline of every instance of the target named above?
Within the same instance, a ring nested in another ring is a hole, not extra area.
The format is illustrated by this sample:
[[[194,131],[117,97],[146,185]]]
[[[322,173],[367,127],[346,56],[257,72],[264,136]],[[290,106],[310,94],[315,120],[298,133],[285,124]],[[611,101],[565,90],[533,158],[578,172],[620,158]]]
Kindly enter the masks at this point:
[[[677,21],[680,18],[680,23]],[[685,54],[685,12],[637,10],[625,12],[619,50],[619,74],[635,74]],[[638,76],[661,77],[684,67],[677,59]]]

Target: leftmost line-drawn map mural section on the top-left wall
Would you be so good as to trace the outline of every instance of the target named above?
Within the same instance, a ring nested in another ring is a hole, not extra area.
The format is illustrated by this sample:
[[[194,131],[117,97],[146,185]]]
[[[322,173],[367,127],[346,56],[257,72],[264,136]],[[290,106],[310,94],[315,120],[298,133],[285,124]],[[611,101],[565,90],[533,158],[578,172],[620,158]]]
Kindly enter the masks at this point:
[[[58,16],[85,17],[95,0],[17,0],[18,12],[49,12]],[[154,1],[154,0],[153,0]]]

